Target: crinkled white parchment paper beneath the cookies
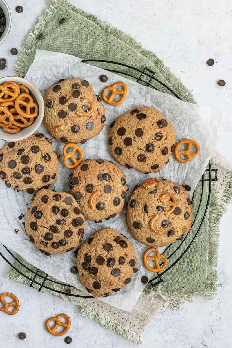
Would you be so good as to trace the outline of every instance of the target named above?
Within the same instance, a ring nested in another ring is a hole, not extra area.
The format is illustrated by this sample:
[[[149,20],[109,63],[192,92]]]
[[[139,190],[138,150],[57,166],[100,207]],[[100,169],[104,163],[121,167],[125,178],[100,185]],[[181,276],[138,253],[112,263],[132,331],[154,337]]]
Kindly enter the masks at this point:
[[[102,83],[99,80],[99,76],[103,73],[108,77],[106,83]],[[95,93],[100,96],[103,88],[114,82],[123,81],[128,86],[127,97],[121,105],[111,106],[104,104],[106,114],[105,127],[98,136],[88,140],[84,145],[81,145],[85,156],[84,158],[104,158],[115,162],[108,147],[109,126],[111,122],[122,113],[138,106],[151,106],[152,108],[158,109],[163,116],[167,117],[176,131],[177,142],[182,139],[193,139],[197,141],[200,146],[199,155],[186,164],[179,163],[172,153],[169,163],[156,174],[146,175],[134,169],[121,167],[127,176],[127,183],[129,185],[127,200],[134,186],[136,184],[142,184],[149,177],[157,177],[159,179],[165,178],[177,182],[178,184],[188,184],[191,186],[192,191],[194,190],[214,152],[217,141],[217,130],[223,113],[206,106],[179,101],[177,98],[168,94],[157,92],[152,88],[139,85],[136,82],[129,81],[116,74],[96,68],[95,66],[81,63],[79,58],[62,53],[37,50],[35,60],[25,76],[25,78],[29,79],[40,89],[42,94],[59,79],[68,79],[72,77],[88,80],[92,84]],[[42,132],[46,136],[51,137],[43,124],[38,129],[38,132]],[[0,145],[2,146],[3,143],[4,142],[1,141]],[[64,144],[54,139],[52,144],[53,150],[62,154]],[[71,172],[70,169],[64,167],[63,156],[61,155],[57,181],[51,188],[55,187],[56,191],[69,192],[69,182],[67,178]],[[86,291],[80,284],[78,275],[70,272],[70,268],[75,265],[73,252],[64,255],[51,255],[51,257],[48,257],[41,254],[39,250],[29,242],[22,226],[22,221],[24,221],[25,218],[19,220],[18,216],[21,213],[26,213],[31,203],[30,199],[31,195],[22,191],[17,193],[15,190],[7,188],[4,182],[0,182],[0,201],[2,205],[0,210],[0,241],[10,247],[11,250],[21,255],[27,262],[33,264],[33,266],[40,268],[62,282],[73,285],[82,291]],[[142,256],[147,246],[137,242],[131,235],[126,226],[125,210],[114,217],[114,219],[103,220],[101,224],[96,224],[87,220],[86,225],[87,229],[83,238],[84,241],[98,229],[111,227],[127,236],[133,243],[139,271],[134,275],[129,285],[121,290],[121,292],[102,298],[103,301],[117,308],[131,311],[144,288],[144,284],[140,281],[141,276],[147,275],[149,278],[152,276],[151,272],[145,269],[142,262]],[[14,232],[15,229],[19,229],[17,234]],[[163,251],[163,249],[164,248],[160,248],[161,251]]]

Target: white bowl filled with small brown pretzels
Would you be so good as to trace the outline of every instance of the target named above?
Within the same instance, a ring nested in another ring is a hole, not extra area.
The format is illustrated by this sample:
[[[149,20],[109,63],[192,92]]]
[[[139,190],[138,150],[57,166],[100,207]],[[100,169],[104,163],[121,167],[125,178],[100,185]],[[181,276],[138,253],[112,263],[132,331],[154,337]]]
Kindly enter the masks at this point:
[[[22,77],[0,78],[0,139],[26,139],[41,125],[43,114],[43,97],[35,85]]]

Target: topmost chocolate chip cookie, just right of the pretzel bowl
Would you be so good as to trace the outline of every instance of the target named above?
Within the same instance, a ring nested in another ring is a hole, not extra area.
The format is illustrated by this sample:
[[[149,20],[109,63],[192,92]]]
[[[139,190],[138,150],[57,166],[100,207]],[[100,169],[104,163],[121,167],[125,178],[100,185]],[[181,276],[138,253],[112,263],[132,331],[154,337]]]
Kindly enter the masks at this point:
[[[86,80],[59,80],[43,99],[43,120],[58,141],[84,144],[104,127],[106,118],[101,98]]]

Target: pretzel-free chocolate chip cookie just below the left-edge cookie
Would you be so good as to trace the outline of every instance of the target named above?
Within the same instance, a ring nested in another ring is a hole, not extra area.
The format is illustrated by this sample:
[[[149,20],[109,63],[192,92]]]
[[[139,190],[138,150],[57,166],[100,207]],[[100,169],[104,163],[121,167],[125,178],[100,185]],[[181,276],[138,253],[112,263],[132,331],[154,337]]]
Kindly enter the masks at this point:
[[[64,254],[75,248],[86,230],[75,199],[66,192],[40,190],[27,211],[25,231],[43,254]]]

